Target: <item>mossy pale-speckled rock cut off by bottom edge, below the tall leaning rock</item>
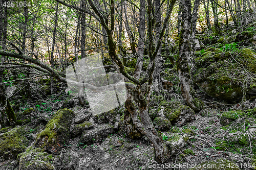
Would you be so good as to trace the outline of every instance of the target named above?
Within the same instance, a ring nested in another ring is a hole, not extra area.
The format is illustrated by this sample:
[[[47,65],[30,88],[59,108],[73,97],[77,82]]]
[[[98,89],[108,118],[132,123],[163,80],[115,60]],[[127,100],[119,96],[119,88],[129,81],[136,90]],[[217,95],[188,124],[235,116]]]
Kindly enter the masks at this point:
[[[44,152],[44,149],[29,147],[17,157],[19,170],[53,170],[54,155]]]

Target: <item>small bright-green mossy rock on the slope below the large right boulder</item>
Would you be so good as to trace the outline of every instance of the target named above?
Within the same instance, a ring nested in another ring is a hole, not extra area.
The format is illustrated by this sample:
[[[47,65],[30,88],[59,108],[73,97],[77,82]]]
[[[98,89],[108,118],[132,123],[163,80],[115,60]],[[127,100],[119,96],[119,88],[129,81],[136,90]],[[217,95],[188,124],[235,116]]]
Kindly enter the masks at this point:
[[[228,112],[224,112],[220,119],[220,124],[222,126],[226,126],[231,124],[234,120],[242,117],[244,114],[241,110],[232,110]]]

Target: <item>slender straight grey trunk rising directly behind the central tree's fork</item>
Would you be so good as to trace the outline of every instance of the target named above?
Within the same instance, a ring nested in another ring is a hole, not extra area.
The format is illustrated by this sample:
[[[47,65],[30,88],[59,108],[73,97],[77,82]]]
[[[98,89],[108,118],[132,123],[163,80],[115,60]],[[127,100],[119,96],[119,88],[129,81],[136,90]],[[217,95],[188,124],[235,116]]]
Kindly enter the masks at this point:
[[[138,59],[136,67],[134,69],[134,77],[136,79],[140,78],[141,69],[143,65],[144,58],[144,40],[145,40],[145,0],[140,0],[140,25],[139,25],[139,46],[138,46]]]

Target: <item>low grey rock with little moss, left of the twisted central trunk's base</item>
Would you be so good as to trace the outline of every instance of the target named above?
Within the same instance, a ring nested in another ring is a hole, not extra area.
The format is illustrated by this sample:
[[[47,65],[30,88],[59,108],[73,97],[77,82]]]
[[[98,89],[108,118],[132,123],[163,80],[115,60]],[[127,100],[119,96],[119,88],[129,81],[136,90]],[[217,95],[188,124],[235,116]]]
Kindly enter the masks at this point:
[[[94,129],[85,130],[80,137],[79,143],[93,144],[102,142],[109,134],[114,133],[114,127],[108,124],[101,124]]]

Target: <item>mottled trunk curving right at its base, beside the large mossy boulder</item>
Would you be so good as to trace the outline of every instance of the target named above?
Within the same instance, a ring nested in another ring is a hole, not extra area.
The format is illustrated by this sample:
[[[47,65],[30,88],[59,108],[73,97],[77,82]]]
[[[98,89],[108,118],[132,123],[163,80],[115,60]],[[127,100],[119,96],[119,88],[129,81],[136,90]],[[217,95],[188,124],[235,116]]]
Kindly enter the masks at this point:
[[[190,56],[191,0],[182,1],[182,29],[179,37],[179,58],[177,69],[180,77],[182,97],[187,105],[198,111],[194,97],[190,94],[188,58]]]

